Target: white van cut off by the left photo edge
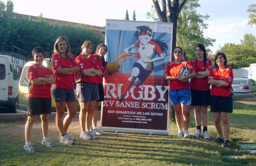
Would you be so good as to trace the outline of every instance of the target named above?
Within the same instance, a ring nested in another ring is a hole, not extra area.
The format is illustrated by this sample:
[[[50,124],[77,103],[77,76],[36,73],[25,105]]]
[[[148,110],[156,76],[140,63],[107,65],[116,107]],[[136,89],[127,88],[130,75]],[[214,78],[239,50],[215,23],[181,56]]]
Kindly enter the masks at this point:
[[[0,54],[0,113],[16,113],[18,85],[25,61]]]

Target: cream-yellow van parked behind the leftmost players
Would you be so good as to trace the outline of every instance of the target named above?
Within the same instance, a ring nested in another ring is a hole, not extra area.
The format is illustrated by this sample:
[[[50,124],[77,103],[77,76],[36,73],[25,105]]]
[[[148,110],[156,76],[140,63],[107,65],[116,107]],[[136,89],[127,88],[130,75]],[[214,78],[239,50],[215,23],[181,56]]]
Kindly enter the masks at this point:
[[[19,97],[19,103],[18,103],[18,109],[27,111],[27,100],[29,99],[29,90],[27,86],[29,85],[29,78],[27,77],[27,71],[29,69],[29,66],[32,64],[35,64],[35,61],[28,61],[24,67],[23,71],[21,73],[20,83],[19,83],[19,89],[18,89],[18,97]],[[52,69],[52,58],[45,58],[43,61],[43,66],[49,67]],[[54,86],[54,85],[52,85]],[[76,89],[74,89],[76,91]],[[76,92],[75,92],[76,94]],[[79,103],[77,102],[77,111],[80,110]],[[55,112],[55,102],[52,97],[52,112]]]

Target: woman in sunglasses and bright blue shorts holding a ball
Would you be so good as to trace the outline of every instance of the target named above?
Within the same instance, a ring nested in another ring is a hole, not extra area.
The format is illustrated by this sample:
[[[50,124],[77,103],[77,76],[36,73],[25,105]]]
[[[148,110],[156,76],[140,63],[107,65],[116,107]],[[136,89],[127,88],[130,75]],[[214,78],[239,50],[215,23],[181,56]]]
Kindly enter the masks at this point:
[[[169,81],[169,103],[174,106],[175,118],[179,130],[178,137],[190,137],[188,127],[190,125],[190,104],[191,93],[188,78],[196,76],[196,71],[190,66],[188,61],[182,60],[182,48],[174,49],[175,60],[167,64],[165,70],[165,80]],[[188,66],[191,74],[183,77],[180,70]],[[184,131],[182,127],[182,119],[184,120]]]

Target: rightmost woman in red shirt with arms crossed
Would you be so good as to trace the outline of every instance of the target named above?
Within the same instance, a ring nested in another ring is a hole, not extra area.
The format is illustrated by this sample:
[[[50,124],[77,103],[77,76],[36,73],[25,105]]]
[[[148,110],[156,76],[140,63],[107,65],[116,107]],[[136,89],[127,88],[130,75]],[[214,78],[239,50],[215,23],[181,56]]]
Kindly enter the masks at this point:
[[[227,67],[227,57],[224,53],[219,52],[215,55],[215,67],[212,69],[208,84],[212,85],[211,95],[211,112],[215,127],[219,133],[216,142],[224,142],[222,147],[229,147],[229,114],[233,112],[233,100],[231,85],[233,82],[232,68]],[[224,136],[221,122],[223,124]]]

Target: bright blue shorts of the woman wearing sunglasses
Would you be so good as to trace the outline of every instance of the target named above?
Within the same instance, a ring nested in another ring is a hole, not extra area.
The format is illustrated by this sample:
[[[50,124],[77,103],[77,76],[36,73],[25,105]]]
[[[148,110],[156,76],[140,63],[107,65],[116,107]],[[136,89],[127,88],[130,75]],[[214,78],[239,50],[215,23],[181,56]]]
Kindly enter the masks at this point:
[[[169,90],[169,104],[170,105],[190,105],[191,104],[191,92],[190,88]]]

